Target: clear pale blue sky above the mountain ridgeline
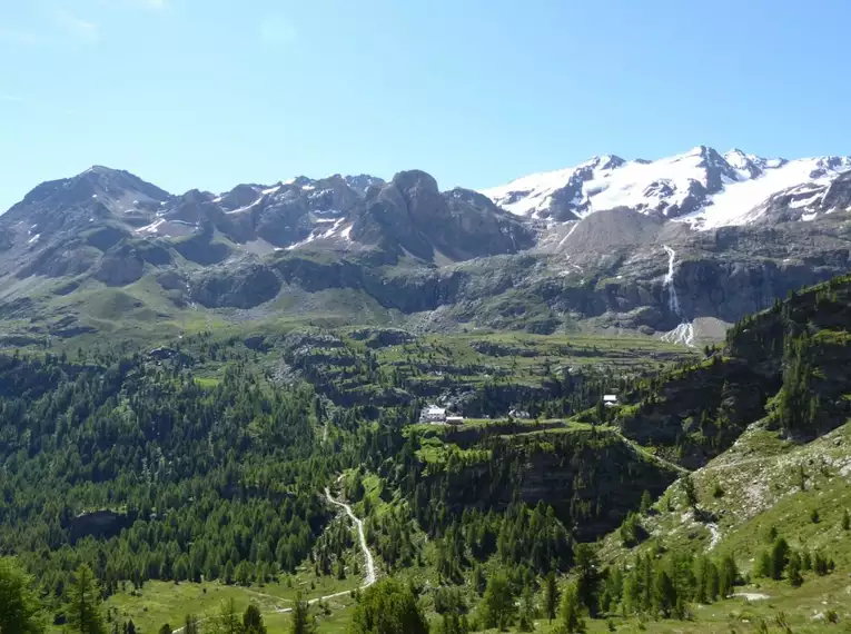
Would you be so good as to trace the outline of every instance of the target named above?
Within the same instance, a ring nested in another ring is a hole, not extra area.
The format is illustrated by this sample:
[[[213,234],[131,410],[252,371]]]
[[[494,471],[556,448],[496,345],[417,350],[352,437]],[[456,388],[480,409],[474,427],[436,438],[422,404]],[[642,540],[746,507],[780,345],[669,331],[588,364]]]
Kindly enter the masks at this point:
[[[705,143],[851,153],[847,0],[0,2],[0,209],[420,168],[482,188]]]

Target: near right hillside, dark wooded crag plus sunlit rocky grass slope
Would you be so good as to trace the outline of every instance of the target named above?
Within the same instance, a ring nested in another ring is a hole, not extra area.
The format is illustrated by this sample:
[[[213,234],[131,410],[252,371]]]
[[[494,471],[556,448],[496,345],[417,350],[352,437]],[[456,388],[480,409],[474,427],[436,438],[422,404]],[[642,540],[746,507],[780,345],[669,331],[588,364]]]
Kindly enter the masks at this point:
[[[705,361],[624,394],[612,416],[623,435],[690,473],[603,539],[602,558],[629,569],[636,556],[660,552],[733,557],[746,585],[735,588],[730,606],[756,602],[766,618],[776,613],[795,631],[843,610],[851,565],[850,361],[851,276],[842,276],[743,319]],[[781,541],[810,562],[798,577],[785,564],[765,572],[763,562]],[[703,625],[689,631],[743,622],[722,603],[696,615]]]

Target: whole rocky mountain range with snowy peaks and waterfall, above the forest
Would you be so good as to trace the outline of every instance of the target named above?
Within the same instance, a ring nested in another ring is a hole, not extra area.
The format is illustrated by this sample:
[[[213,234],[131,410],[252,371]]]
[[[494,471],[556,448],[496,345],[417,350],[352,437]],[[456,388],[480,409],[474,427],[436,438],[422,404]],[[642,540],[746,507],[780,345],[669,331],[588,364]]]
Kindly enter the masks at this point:
[[[92,167],[0,216],[0,343],[234,320],[696,345],[851,268],[851,158],[704,146],[482,191],[298,177],[171,195]]]

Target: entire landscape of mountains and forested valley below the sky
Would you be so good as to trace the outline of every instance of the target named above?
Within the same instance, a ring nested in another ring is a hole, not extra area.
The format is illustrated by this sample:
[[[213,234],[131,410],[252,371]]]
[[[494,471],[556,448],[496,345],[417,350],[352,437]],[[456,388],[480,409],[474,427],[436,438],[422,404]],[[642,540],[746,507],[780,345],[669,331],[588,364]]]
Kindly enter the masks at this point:
[[[419,171],[39,186],[0,216],[27,631],[842,627],[844,159],[718,226],[786,164],[713,152],[493,199]],[[675,172],[595,207],[669,164],[705,196]]]

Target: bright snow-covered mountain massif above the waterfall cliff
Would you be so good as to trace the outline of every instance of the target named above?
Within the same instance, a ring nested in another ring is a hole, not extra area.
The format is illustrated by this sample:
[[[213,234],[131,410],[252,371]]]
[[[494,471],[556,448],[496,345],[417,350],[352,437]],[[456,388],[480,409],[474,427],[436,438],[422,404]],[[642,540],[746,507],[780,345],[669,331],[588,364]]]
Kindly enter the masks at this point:
[[[793,209],[803,210],[803,219],[812,219],[812,214],[830,211],[810,207],[849,170],[851,157],[766,159],[738,149],[722,156],[700,146],[655,161],[594,157],[482,194],[513,214],[550,221],[623,207],[713,229],[766,217],[776,210],[771,200],[782,194],[790,195]]]

